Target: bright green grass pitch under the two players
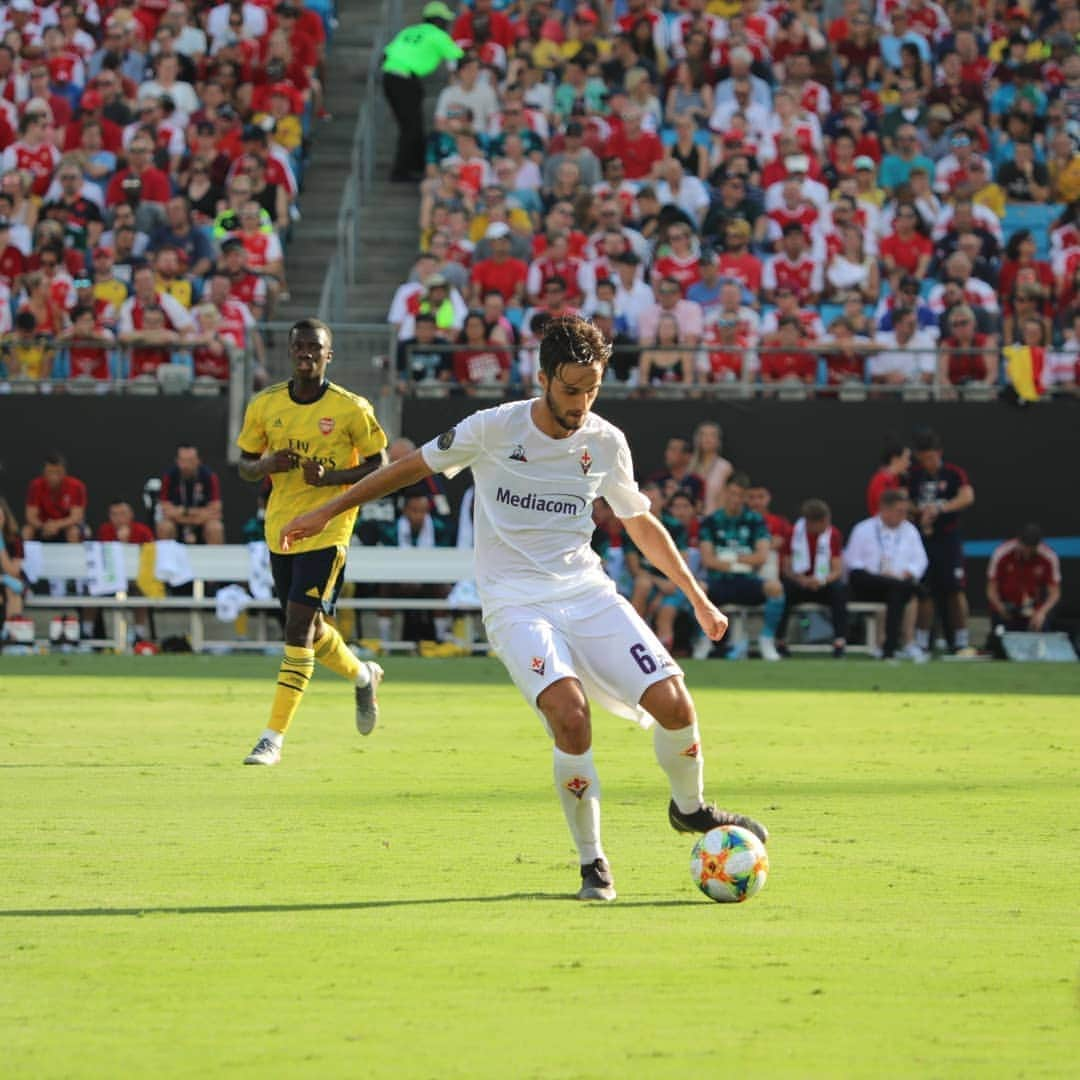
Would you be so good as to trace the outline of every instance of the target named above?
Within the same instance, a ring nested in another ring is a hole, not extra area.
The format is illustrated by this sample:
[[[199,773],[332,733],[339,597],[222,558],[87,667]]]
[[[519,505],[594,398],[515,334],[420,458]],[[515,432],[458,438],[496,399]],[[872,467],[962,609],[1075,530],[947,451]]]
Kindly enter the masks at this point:
[[[691,886],[651,740],[595,720],[619,900],[490,661],[0,661],[0,1075],[1051,1077],[1080,1062],[1080,667],[687,665],[707,789],[772,829]]]

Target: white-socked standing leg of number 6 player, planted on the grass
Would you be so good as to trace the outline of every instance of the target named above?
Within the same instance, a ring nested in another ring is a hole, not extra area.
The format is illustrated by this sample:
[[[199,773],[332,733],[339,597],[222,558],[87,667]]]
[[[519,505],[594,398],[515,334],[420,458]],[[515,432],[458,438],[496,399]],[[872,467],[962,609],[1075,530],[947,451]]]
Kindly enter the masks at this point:
[[[578,900],[615,900],[600,842],[600,778],[593,761],[589,700],[578,679],[568,677],[549,686],[537,698],[537,708],[555,740],[555,791],[581,863]]]

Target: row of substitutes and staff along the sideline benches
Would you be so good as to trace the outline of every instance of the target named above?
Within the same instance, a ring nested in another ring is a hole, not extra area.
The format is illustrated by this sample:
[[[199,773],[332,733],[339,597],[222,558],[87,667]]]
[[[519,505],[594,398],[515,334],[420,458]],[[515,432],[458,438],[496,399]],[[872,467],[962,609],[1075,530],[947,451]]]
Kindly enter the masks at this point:
[[[414,443],[399,438],[389,457],[395,461],[413,449]],[[942,440],[933,431],[916,433],[910,447],[897,441],[886,445],[879,468],[867,481],[867,516],[853,525],[847,539],[820,498],[807,498],[793,508],[791,517],[778,513],[768,487],[752,483],[724,457],[723,432],[714,422],[699,424],[692,436],[670,438],[662,464],[645,477],[642,489],[710,598],[721,609],[735,605],[760,612],[764,626],[756,646],[766,660],[786,654],[793,615],[805,622],[799,633],[804,644],[810,638],[831,645],[833,654],[842,658],[851,600],[883,606],[879,638],[886,659],[922,662],[932,646],[961,657],[975,654],[968,626],[961,532],[963,511],[974,502],[975,491],[967,472],[945,460]],[[245,541],[262,538],[266,494],[264,485],[260,512],[243,529]],[[63,457],[54,455],[26,492],[22,528],[10,502],[0,496],[0,607],[4,608],[0,645],[25,645],[33,638],[23,607],[30,584],[23,565],[26,541],[81,543],[92,537],[136,544],[225,541],[220,483],[197,447],[178,446],[173,464],[160,482],[147,486],[145,495],[149,526],[136,519],[130,502],[116,498],[108,519],[93,528],[86,521],[85,485],[68,473]],[[698,633],[689,600],[643,558],[603,500],[594,505],[593,518],[594,551],[618,590],[654,626],[665,646],[676,654],[693,652],[699,658],[746,654],[746,640],[714,648]],[[471,548],[472,540],[471,489],[455,512],[440,476],[365,504],[353,536],[355,544],[391,548]],[[1057,556],[1042,542],[1039,526],[1024,526],[990,558],[985,603],[991,627],[1051,629],[1061,584]],[[131,588],[137,595],[136,585]],[[448,592],[441,585],[383,584],[370,586],[366,595],[418,599],[443,598]],[[823,610],[805,616],[799,606],[806,604]],[[145,638],[150,634],[145,612],[141,619],[136,633]],[[390,612],[379,612],[377,619],[377,639],[395,639]],[[66,626],[55,622],[56,633],[67,635],[58,640],[68,644],[77,644],[80,635],[102,636],[85,612],[81,625],[73,612]],[[933,636],[935,627],[939,637]],[[360,636],[351,619],[342,632]],[[453,647],[453,619],[418,605],[406,615],[403,637],[427,643],[432,646],[429,654],[438,654],[438,645]],[[991,635],[991,649],[997,642]]]

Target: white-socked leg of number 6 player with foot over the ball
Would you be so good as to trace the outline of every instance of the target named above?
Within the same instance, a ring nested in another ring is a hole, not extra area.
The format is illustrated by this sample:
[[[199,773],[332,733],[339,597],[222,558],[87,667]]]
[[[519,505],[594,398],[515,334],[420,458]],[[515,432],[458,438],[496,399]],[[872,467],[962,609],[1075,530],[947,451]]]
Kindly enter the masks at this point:
[[[653,683],[640,701],[654,719],[652,745],[672,788],[667,820],[679,833],[707,833],[718,825],[748,828],[761,842],[769,831],[745,814],[719,810],[704,798],[705,758],[701,748],[698,715],[681,675]]]

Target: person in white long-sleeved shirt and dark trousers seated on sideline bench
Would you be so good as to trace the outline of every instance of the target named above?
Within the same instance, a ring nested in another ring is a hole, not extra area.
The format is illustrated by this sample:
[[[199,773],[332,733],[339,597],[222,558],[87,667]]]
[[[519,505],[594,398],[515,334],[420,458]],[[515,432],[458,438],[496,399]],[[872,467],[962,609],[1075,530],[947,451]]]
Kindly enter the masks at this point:
[[[907,519],[909,509],[906,491],[882,492],[877,515],[851,530],[843,565],[853,599],[886,605],[882,657],[900,653],[918,663],[928,659],[914,640],[919,581],[928,559],[919,530]]]

